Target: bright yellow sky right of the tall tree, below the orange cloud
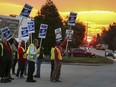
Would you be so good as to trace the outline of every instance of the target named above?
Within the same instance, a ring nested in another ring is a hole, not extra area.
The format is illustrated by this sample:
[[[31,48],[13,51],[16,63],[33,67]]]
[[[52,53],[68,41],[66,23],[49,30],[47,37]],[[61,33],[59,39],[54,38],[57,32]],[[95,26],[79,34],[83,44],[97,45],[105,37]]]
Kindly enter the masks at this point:
[[[60,12],[63,18],[69,16],[70,12]],[[113,11],[81,11],[77,12],[77,20],[88,23],[89,34],[97,34],[102,32],[103,27],[108,27],[115,22],[116,13]]]

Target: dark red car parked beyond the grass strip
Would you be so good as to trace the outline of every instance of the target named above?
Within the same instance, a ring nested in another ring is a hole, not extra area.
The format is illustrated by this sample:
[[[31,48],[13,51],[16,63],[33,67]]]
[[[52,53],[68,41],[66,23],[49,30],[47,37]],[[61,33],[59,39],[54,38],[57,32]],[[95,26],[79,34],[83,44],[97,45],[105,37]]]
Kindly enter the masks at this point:
[[[81,48],[71,48],[68,51],[68,56],[80,56],[80,57],[95,57],[95,54],[92,52],[87,52],[87,50]]]

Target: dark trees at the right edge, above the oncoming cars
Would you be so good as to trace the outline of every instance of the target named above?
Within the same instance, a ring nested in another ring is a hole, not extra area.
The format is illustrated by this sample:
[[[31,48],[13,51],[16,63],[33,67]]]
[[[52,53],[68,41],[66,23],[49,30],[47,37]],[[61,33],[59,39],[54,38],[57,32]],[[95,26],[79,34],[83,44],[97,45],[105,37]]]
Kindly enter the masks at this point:
[[[97,35],[97,43],[107,44],[108,49],[116,50],[116,23],[110,24],[108,29],[103,29],[101,35]]]

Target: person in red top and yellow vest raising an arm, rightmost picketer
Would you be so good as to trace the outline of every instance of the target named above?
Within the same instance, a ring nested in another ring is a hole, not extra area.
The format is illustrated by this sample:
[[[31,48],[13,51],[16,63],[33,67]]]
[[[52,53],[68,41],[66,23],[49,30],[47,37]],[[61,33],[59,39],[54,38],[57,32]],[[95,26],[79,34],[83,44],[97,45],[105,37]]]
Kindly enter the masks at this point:
[[[57,41],[56,46],[54,47],[54,70],[50,79],[52,82],[61,82],[59,78],[60,78],[61,65],[63,60],[62,47],[66,45],[66,43],[67,43],[67,38],[62,43],[60,41]]]

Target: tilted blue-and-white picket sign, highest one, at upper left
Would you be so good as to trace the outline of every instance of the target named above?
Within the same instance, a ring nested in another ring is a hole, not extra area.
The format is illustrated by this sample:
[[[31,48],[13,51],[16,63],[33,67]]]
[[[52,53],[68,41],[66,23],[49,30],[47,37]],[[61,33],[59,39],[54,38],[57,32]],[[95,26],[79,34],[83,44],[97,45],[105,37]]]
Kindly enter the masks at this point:
[[[29,17],[29,14],[31,13],[32,8],[33,8],[32,6],[25,4],[20,13],[20,16]]]

